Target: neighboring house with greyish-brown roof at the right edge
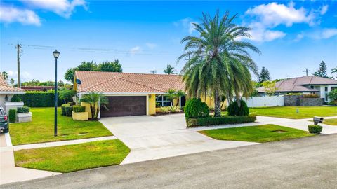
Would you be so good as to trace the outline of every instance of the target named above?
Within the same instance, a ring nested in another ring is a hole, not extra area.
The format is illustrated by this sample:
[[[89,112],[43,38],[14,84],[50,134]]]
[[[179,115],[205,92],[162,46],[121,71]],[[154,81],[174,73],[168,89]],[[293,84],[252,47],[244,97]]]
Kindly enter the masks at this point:
[[[330,102],[328,97],[331,90],[337,89],[337,80],[322,78],[318,76],[305,76],[299,78],[291,78],[281,80],[276,83],[277,90],[275,95],[297,93],[303,94],[319,94],[319,97],[324,99],[325,102]],[[259,87],[258,93],[260,96],[265,95],[265,88]]]

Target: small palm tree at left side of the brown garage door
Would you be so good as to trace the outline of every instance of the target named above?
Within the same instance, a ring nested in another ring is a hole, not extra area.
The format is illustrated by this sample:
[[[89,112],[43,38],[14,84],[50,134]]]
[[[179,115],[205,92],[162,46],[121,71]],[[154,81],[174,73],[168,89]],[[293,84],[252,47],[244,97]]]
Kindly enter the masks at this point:
[[[103,106],[107,109],[107,104],[109,104],[109,100],[102,93],[91,92],[89,94],[85,94],[84,97],[81,98],[81,102],[86,102],[90,105],[91,111],[91,119],[97,120],[98,113],[100,112],[100,107],[96,107],[97,104]]]

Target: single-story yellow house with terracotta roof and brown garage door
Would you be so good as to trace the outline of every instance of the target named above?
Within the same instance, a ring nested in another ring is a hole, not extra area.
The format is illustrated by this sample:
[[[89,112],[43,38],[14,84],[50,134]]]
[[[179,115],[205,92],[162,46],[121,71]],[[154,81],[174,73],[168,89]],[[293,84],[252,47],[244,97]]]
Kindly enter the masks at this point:
[[[156,104],[171,106],[166,97],[169,89],[184,90],[185,85],[179,75],[118,73],[101,71],[75,71],[74,90],[77,97],[89,92],[100,92],[107,96],[109,110],[101,109],[100,117],[139,116],[156,114]],[[211,97],[204,99],[206,104],[213,106]],[[185,106],[185,97],[173,105]],[[87,110],[88,112],[88,106]]]

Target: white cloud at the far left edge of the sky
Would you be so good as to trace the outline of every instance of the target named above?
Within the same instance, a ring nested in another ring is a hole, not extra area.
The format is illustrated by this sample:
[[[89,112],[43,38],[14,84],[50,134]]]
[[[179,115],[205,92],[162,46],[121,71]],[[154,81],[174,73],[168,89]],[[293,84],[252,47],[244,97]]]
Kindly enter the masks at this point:
[[[39,16],[32,10],[11,6],[0,6],[0,21],[5,23],[20,22],[22,25],[41,25]]]

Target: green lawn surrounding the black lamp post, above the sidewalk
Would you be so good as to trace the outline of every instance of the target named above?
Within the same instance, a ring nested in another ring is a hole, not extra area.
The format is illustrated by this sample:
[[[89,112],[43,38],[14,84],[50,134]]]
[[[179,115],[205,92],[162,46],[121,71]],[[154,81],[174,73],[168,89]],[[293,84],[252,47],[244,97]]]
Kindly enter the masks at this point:
[[[31,108],[30,123],[11,123],[13,145],[47,141],[65,141],[91,137],[110,136],[112,133],[98,121],[76,121],[60,116],[58,109],[58,137],[54,137],[54,108]]]

